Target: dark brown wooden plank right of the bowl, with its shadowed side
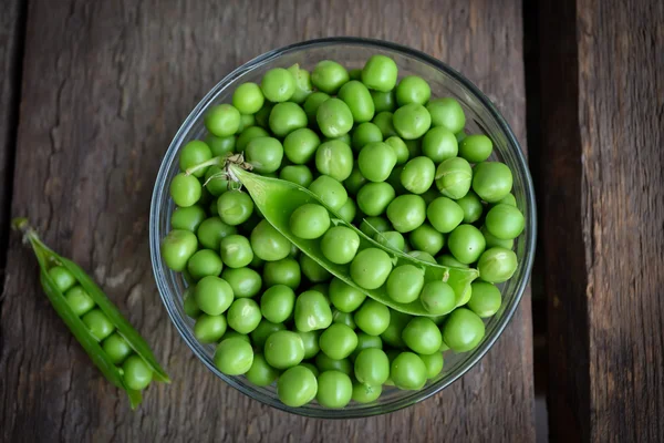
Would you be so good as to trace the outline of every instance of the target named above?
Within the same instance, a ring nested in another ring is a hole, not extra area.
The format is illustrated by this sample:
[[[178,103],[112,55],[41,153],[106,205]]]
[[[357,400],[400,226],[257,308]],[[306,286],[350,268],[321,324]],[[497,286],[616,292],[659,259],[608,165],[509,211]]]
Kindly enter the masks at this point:
[[[664,441],[663,21],[661,1],[540,10],[558,441]]]

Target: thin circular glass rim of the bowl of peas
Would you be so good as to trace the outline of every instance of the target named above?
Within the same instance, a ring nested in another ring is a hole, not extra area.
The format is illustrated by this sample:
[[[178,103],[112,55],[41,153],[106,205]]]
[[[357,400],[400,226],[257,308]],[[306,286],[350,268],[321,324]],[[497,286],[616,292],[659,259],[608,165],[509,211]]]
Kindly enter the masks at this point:
[[[412,391],[411,395],[406,395],[402,399],[398,399],[391,403],[376,403],[373,405],[367,405],[367,408],[359,409],[359,410],[329,410],[329,409],[309,409],[309,408],[291,408],[281,403],[280,401],[263,395],[262,393],[258,393],[256,391],[249,391],[242,383],[239,383],[234,378],[221,374],[212,364],[210,364],[206,358],[204,357],[200,349],[198,349],[199,343],[193,338],[190,331],[186,330],[184,327],[184,322],[179,318],[180,316],[169,306],[168,292],[169,289],[166,287],[164,278],[160,276],[164,269],[160,264],[160,257],[158,254],[159,250],[159,241],[155,234],[155,226],[158,224],[158,215],[160,213],[159,202],[163,196],[164,186],[160,186],[164,183],[168,175],[168,169],[175,158],[175,153],[181,144],[181,138],[190,131],[191,126],[200,116],[201,112],[220,94],[226,86],[228,86],[234,80],[243,74],[247,71],[253,70],[262,64],[266,64],[282,54],[305,50],[310,48],[321,47],[321,45],[360,45],[360,47],[370,47],[380,50],[388,50],[393,52],[403,53],[404,55],[412,56],[417,59],[419,62],[424,62],[429,64],[430,66],[443,71],[443,73],[449,75],[455,81],[461,84],[463,87],[469,92],[474,99],[476,99],[481,106],[484,106],[490,114],[490,116],[497,122],[499,130],[506,137],[507,145],[510,151],[516,156],[516,163],[519,168],[519,174],[523,178],[523,188],[525,188],[525,197],[527,200],[527,224],[528,230],[527,236],[525,238],[526,247],[525,247],[525,257],[521,261],[521,266],[525,267],[522,278],[518,282],[516,288],[516,295],[513,297],[512,303],[506,308],[502,312],[502,316],[497,320],[497,324],[495,326],[494,333],[491,337],[488,337],[478,348],[475,349],[471,356],[469,356],[461,364],[459,364],[453,372],[450,372],[446,379],[440,380],[437,383],[433,383],[429,387],[419,390]],[[168,161],[169,159],[169,161]],[[445,388],[449,387],[452,383],[457,381],[460,377],[470,371],[478,362],[481,360],[485,354],[491,349],[491,347],[496,343],[498,338],[502,334],[507,324],[511,321],[516,310],[519,307],[526,287],[530,280],[530,274],[532,269],[532,262],[535,260],[535,249],[536,249],[536,236],[537,236],[537,218],[536,218],[536,200],[535,200],[535,190],[532,178],[530,176],[530,172],[528,168],[528,164],[526,161],[526,156],[523,151],[521,150],[521,145],[519,144],[516,135],[513,134],[511,127],[502,116],[502,114],[496,109],[494,103],[468,79],[466,79],[460,72],[450,68],[446,63],[440,60],[428,55],[422,51],[388,42],[377,39],[365,39],[365,38],[355,38],[355,37],[332,37],[332,38],[323,38],[323,39],[313,39],[307,40],[293,44],[289,44],[279,49],[274,49],[268,51],[261,55],[258,55],[242,65],[236,68],[229,74],[227,74],[221,81],[219,81],[194,107],[194,110],[187,115],[187,119],[180,125],[178,131],[176,132],[173,141],[170,142],[168,150],[164,154],[162,164],[159,166],[159,171],[155,181],[155,186],[153,189],[153,196],[151,202],[151,215],[149,215],[149,248],[151,248],[151,259],[153,265],[153,274],[155,276],[155,281],[157,284],[157,289],[159,291],[159,296],[164,306],[166,307],[166,311],[175,324],[176,329],[180,337],[185,340],[187,346],[191,349],[191,351],[198,357],[203,363],[208,367],[208,369],[218,375],[221,380],[227,382],[229,385],[240,391],[242,394],[258,400],[261,403],[267,405],[277,408],[279,410],[294,413],[298,415],[309,416],[309,418],[323,418],[323,419],[356,419],[356,418],[369,418],[374,415],[380,415],[383,413],[391,413],[404,409],[408,405],[418,403],[424,401],[432,395],[440,392]]]

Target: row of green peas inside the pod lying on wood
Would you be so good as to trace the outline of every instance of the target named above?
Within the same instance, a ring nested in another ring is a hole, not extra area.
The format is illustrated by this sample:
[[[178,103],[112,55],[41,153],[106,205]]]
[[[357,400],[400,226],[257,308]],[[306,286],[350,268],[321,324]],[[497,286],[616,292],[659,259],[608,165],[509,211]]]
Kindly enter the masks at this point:
[[[81,321],[89,333],[101,343],[107,360],[122,369],[125,385],[135,391],[143,391],[153,380],[152,368],[132,349],[129,343],[117,332],[115,324],[97,307],[76,281],[75,277],[62,266],[49,269],[58,290]]]

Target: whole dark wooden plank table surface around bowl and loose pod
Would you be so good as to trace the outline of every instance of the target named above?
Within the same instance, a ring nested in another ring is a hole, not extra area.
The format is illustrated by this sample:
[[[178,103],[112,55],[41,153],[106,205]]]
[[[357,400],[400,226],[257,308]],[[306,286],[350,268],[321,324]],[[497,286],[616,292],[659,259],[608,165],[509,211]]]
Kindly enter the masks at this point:
[[[538,3],[541,136],[528,146],[559,440],[664,441],[664,7],[618,3]],[[533,441],[529,292],[490,352],[444,392],[390,415],[310,420],[204,368],[162,306],[147,245],[154,179],[179,123],[231,69],[288,43],[347,34],[427,52],[488,93],[527,146],[521,8],[0,0],[2,440]],[[94,275],[168,367],[173,384],[153,385],[136,412],[42,295],[31,253],[8,233],[20,215]]]

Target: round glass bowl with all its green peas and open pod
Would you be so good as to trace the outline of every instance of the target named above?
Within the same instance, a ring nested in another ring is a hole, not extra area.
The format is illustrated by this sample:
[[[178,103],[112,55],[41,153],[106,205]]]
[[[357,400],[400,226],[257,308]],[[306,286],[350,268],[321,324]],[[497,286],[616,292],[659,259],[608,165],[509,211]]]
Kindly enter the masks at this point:
[[[215,374],[354,418],[424,400],[486,353],[528,282],[535,222],[520,147],[470,82],[328,39],[248,62],[193,111],[157,177],[151,248]]]

